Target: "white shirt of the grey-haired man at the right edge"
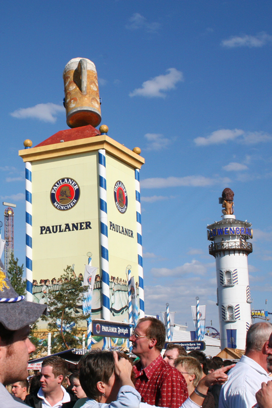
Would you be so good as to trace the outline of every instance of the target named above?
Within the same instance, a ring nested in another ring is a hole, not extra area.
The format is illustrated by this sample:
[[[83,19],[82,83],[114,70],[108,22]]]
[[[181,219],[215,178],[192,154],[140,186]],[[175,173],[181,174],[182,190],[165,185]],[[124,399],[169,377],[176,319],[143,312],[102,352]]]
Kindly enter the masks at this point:
[[[255,394],[262,382],[271,377],[266,370],[249,357],[242,356],[229,371],[219,397],[220,408],[251,408],[256,404]]]

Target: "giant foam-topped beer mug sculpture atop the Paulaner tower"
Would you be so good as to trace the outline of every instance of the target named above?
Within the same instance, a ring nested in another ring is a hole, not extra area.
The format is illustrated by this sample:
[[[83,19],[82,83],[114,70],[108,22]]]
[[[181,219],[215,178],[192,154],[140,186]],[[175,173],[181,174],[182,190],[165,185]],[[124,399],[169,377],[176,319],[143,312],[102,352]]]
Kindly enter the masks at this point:
[[[66,122],[70,128],[101,122],[95,65],[87,58],[73,58],[63,71]]]

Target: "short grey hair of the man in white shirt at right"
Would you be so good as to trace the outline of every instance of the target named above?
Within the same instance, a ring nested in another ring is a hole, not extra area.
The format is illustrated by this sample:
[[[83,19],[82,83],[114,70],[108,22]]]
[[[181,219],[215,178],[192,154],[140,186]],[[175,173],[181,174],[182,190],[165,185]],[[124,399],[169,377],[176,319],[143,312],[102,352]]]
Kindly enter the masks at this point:
[[[272,332],[272,324],[261,321],[252,324],[246,334],[246,353],[249,351],[262,351],[264,344],[269,340]]]

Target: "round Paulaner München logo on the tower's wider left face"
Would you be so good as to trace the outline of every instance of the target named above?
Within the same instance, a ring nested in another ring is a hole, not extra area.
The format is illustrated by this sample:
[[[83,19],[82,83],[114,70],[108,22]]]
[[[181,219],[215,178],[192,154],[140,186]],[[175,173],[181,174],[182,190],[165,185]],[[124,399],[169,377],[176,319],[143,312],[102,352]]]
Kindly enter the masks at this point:
[[[80,188],[73,179],[60,179],[51,188],[51,203],[60,211],[70,210],[77,204],[79,197]]]

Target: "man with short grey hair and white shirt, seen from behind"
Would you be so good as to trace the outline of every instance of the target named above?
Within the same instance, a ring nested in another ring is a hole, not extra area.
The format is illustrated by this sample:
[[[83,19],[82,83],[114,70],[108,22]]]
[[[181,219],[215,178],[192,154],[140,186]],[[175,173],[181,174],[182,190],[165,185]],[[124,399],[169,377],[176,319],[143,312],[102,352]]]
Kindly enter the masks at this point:
[[[223,385],[220,408],[252,408],[256,404],[256,392],[262,382],[271,377],[267,369],[267,352],[272,324],[255,323],[250,326],[246,336],[245,355],[228,373],[228,380]]]

